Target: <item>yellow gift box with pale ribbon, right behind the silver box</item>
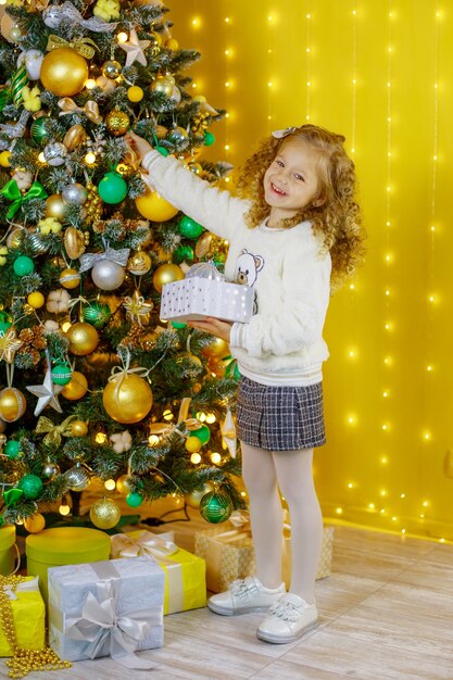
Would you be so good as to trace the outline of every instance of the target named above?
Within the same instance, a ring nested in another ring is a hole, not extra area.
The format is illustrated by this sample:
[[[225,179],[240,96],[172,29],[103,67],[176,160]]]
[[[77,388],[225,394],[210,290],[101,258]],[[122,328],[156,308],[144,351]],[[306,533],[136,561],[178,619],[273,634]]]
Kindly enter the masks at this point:
[[[204,561],[174,542],[174,533],[129,531],[112,536],[115,557],[147,555],[165,572],[164,614],[176,614],[206,606]]]

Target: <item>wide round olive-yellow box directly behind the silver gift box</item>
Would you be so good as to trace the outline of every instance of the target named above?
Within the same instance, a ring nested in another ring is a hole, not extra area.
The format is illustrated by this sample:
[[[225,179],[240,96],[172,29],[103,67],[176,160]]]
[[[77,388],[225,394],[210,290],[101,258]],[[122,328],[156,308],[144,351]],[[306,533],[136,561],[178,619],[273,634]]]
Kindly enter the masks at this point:
[[[39,576],[39,587],[47,602],[48,568],[109,559],[110,537],[85,527],[55,527],[28,536],[25,553],[27,572]]]

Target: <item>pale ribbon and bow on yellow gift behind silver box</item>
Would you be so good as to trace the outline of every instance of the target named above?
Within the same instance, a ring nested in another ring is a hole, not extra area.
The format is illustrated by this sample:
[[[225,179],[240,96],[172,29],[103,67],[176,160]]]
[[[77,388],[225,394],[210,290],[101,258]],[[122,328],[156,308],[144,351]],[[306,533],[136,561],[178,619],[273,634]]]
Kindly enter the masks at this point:
[[[167,533],[152,533],[151,531],[116,533],[111,537],[112,557],[137,557],[146,555],[159,562],[166,569],[166,587],[168,593],[168,609],[181,612],[184,606],[183,567],[179,563],[168,559],[169,555],[178,552],[174,542],[173,531]]]

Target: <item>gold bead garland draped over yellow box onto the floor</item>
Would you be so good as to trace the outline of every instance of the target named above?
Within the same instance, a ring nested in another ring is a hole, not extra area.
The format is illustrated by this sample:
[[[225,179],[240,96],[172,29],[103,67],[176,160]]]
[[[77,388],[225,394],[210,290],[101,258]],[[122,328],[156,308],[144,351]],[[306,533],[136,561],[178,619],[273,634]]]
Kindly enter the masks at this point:
[[[15,590],[18,583],[23,583],[23,576],[0,576],[0,627],[11,647],[13,656],[7,659],[10,668],[10,678],[24,678],[34,670],[60,670],[71,668],[71,662],[62,662],[50,647],[42,650],[22,650],[17,645],[15,634],[13,609],[11,600],[5,588]]]

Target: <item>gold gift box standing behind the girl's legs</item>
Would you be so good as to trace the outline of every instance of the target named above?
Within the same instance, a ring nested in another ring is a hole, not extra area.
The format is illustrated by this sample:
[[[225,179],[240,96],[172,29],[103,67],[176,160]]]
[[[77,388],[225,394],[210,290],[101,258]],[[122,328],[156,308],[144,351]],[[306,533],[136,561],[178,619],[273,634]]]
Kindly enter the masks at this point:
[[[227,527],[214,527],[196,532],[196,555],[206,563],[207,590],[218,593],[227,590],[236,579],[255,574],[255,556],[248,513],[235,511]],[[325,527],[323,552],[316,579],[330,574],[334,527]],[[287,588],[291,571],[290,525],[285,524],[282,551],[282,578]]]

